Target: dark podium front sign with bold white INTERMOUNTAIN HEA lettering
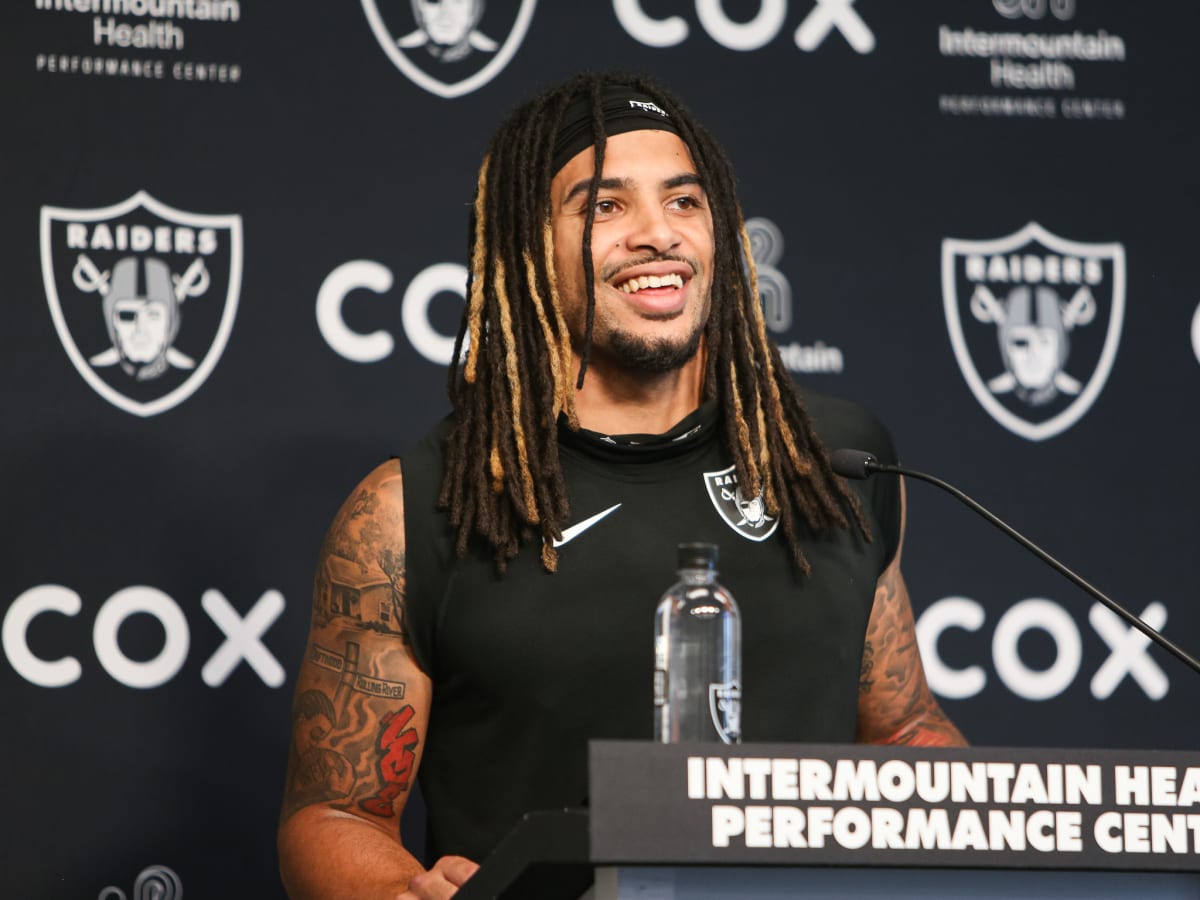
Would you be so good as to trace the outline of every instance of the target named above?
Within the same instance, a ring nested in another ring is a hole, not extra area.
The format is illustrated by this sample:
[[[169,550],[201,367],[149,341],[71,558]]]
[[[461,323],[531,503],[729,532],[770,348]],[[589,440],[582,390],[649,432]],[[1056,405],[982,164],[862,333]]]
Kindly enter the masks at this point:
[[[1200,754],[592,742],[594,864],[1200,871]]]

